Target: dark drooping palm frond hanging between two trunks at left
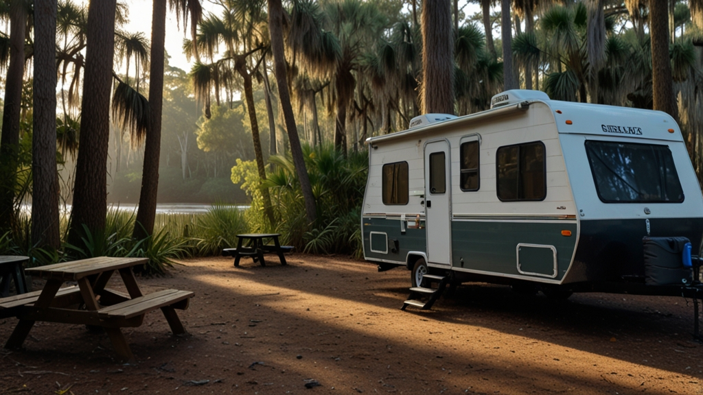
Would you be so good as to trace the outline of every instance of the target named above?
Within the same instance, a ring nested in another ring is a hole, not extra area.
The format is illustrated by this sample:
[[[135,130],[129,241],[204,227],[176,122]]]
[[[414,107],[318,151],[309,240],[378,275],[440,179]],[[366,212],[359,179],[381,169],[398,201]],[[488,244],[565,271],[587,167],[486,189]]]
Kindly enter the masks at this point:
[[[120,81],[112,94],[112,118],[122,129],[129,130],[132,143],[138,145],[149,129],[149,101],[134,88]]]

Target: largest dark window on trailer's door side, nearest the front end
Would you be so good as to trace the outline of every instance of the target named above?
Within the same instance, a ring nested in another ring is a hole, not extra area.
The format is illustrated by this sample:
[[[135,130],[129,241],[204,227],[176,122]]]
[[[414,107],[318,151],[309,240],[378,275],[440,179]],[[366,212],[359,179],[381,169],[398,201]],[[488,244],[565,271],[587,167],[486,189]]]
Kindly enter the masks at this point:
[[[506,145],[496,152],[496,189],[503,202],[544,200],[547,168],[544,143]]]

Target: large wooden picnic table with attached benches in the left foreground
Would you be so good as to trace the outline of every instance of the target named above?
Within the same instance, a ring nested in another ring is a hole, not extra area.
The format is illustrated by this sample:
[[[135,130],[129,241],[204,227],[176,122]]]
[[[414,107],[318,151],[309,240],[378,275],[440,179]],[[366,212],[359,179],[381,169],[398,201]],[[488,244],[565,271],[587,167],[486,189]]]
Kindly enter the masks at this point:
[[[132,360],[134,355],[120,328],[141,325],[145,314],[155,309],[164,313],[174,335],[186,332],[174,309],[187,309],[193,292],[161,290],[142,294],[132,266],[147,261],[98,257],[27,269],[32,276],[46,278],[46,285],[39,292],[0,299],[0,318],[20,318],[5,348],[20,348],[35,321],[82,324],[104,328],[117,354]],[[129,295],[105,288],[115,271],[120,273]],[[61,288],[67,281],[78,285]]]

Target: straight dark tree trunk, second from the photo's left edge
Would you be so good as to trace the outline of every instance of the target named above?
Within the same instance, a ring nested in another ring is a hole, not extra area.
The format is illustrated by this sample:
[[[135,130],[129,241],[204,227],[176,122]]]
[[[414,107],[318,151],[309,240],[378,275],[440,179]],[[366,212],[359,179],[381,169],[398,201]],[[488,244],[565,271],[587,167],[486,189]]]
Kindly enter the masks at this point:
[[[34,0],[34,121],[32,131],[32,245],[56,250],[56,1]]]

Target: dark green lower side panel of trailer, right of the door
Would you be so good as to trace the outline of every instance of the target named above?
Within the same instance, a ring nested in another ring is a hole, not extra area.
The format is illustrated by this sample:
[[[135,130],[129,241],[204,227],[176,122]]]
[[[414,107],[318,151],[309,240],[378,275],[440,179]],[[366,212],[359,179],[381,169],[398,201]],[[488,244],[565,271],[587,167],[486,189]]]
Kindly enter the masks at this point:
[[[562,231],[571,231],[572,235],[564,236]],[[519,244],[523,245],[520,250]],[[556,252],[556,273],[550,247]],[[561,280],[571,263],[574,247],[575,222],[452,222],[455,268]]]

